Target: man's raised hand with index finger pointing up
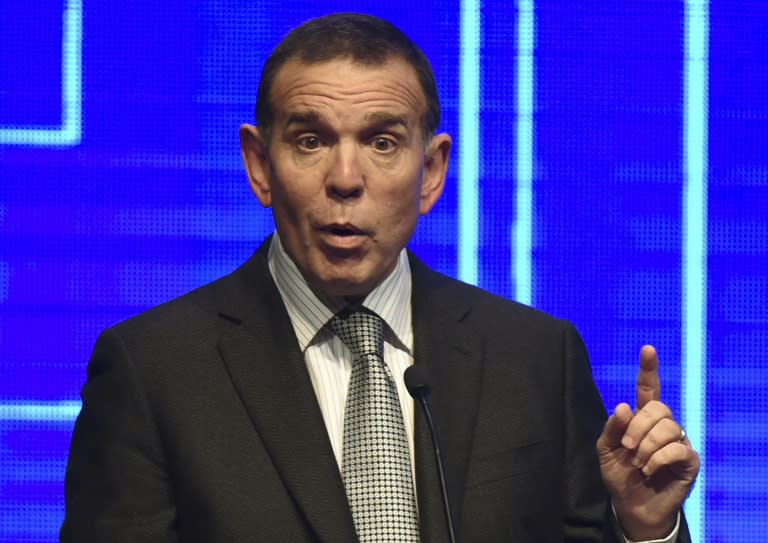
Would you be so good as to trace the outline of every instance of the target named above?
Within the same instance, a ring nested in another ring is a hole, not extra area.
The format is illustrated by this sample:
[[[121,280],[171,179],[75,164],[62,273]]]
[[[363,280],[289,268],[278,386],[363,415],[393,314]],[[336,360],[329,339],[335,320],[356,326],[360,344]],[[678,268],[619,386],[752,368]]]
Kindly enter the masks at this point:
[[[699,455],[669,408],[659,401],[659,360],[640,350],[637,409],[619,404],[597,440],[600,470],[624,534],[633,541],[661,539],[699,472]]]

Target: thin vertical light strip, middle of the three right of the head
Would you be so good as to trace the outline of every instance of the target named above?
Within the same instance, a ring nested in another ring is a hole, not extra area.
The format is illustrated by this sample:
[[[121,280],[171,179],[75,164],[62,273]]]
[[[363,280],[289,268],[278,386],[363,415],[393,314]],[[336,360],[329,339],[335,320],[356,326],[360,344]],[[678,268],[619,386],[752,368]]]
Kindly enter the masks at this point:
[[[535,80],[534,43],[536,23],[533,0],[517,2],[517,147],[515,221],[512,232],[513,297],[533,303],[533,89]]]

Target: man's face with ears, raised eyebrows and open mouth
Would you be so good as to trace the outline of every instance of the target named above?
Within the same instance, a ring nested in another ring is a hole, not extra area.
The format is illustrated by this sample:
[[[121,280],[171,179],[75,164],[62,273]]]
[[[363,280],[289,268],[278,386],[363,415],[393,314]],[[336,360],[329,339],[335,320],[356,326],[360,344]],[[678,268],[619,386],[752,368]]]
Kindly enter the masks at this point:
[[[331,305],[361,301],[440,196],[451,140],[425,146],[426,99],[399,58],[291,60],[270,95],[269,141],[240,129],[251,187],[313,291]]]

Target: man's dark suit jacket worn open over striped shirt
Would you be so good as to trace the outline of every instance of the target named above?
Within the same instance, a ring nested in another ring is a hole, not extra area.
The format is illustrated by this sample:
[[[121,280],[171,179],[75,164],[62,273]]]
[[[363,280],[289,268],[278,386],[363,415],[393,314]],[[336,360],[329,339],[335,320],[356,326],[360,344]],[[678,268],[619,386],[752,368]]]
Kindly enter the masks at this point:
[[[61,540],[355,541],[265,243],[231,275],[102,333],[73,434]],[[411,258],[414,360],[432,376],[461,542],[620,541],[605,413],[567,323]],[[422,540],[447,541],[416,411]]]

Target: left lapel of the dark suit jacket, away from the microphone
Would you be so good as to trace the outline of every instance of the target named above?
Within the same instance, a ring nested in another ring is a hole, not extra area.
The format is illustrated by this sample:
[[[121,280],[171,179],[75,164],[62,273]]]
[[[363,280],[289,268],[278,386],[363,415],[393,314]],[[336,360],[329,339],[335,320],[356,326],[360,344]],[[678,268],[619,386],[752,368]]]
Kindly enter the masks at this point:
[[[234,278],[240,292],[222,313],[239,325],[220,338],[219,351],[235,388],[318,539],[355,541],[336,459],[264,246]]]

